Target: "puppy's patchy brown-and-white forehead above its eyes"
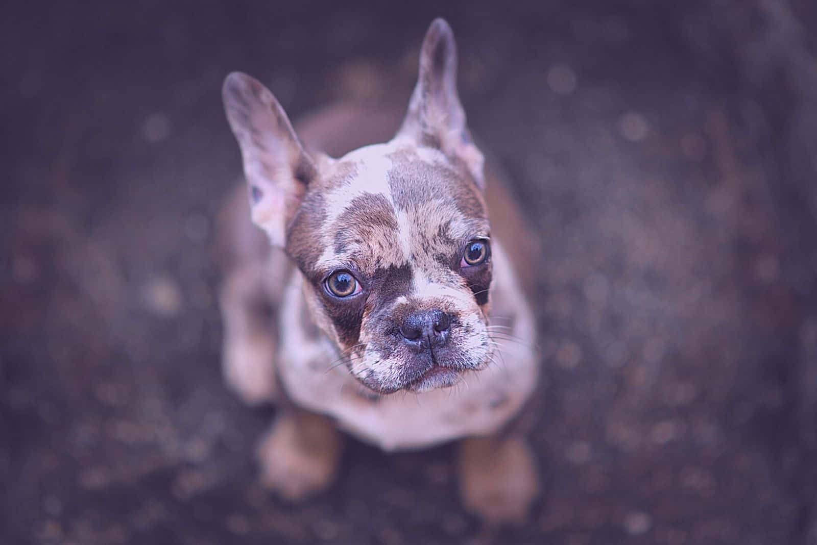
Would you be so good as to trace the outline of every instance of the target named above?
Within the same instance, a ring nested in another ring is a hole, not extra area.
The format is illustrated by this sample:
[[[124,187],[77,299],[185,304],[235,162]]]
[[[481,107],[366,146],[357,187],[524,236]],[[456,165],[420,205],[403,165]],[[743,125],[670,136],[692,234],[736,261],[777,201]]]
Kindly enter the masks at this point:
[[[342,157],[292,221],[288,251],[305,272],[361,272],[448,259],[488,236],[480,190],[430,148],[377,144]]]

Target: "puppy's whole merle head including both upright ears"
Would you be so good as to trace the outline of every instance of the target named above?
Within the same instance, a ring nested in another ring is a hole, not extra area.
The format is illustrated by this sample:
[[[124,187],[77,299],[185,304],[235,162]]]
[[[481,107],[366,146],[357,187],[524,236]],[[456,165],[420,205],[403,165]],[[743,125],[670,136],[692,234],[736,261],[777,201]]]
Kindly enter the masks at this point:
[[[261,83],[231,74],[224,100],[253,220],[297,263],[312,316],[350,372],[376,392],[424,392],[487,366],[483,159],[448,24],[431,24],[408,113],[386,144],[310,156]]]

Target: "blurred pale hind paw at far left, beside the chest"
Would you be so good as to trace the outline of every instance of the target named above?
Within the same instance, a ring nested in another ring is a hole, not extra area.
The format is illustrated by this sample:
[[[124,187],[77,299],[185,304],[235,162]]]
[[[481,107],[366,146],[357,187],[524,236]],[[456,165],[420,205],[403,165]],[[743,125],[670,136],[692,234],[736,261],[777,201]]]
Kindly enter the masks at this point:
[[[266,336],[227,339],[222,366],[226,383],[248,405],[275,400],[275,342]]]

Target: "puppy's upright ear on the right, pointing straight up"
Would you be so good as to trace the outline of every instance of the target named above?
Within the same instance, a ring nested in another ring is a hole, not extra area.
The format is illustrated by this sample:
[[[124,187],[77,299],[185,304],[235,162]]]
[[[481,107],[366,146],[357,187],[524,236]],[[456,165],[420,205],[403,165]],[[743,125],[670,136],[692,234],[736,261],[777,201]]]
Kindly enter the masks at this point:
[[[457,44],[445,20],[435,19],[422,42],[417,86],[397,136],[439,148],[483,186],[484,159],[471,141],[457,94]]]

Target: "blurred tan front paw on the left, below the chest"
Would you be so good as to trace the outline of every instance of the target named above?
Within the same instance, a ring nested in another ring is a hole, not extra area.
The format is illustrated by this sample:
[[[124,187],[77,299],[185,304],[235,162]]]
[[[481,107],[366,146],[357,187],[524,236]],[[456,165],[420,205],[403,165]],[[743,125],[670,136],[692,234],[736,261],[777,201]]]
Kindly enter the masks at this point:
[[[324,417],[284,414],[258,445],[261,484],[293,502],[317,494],[332,484],[340,451],[340,436]]]

